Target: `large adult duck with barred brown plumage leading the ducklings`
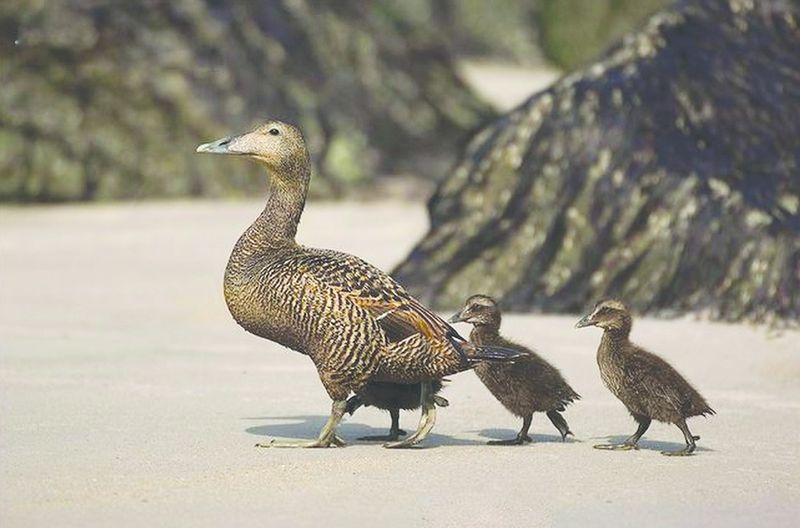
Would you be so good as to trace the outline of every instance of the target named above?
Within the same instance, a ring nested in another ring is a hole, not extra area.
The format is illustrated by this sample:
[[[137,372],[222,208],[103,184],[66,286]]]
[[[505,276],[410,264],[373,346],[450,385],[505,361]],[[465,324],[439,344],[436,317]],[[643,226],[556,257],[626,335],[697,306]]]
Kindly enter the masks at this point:
[[[236,242],[225,269],[228,310],[246,331],[308,356],[333,403],[319,436],[261,447],[343,445],[336,428],[347,396],[371,381],[420,383],[417,431],[386,447],[409,447],[435,422],[431,382],[516,352],[470,344],[389,275],[358,257],[295,241],[311,179],[300,130],[277,120],[197,147],[258,162],[269,174],[266,207]]]

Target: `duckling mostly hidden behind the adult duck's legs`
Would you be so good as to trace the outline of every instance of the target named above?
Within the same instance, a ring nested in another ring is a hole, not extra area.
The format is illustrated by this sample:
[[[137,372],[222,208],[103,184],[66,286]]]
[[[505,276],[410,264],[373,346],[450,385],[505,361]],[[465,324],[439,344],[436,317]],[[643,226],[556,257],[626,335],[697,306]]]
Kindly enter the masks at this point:
[[[434,403],[439,407],[447,407],[450,405],[445,398],[439,396],[439,391],[442,390],[444,384],[443,380],[434,380],[431,382],[431,397]],[[412,411],[419,409],[419,383],[386,383],[380,381],[372,381],[367,384],[364,389],[351,396],[347,400],[347,413],[353,415],[359,407],[377,407],[389,411],[392,423],[389,427],[389,433],[386,435],[376,436],[362,436],[359,440],[367,441],[395,441],[401,436],[405,436],[406,432],[400,429],[400,409]]]

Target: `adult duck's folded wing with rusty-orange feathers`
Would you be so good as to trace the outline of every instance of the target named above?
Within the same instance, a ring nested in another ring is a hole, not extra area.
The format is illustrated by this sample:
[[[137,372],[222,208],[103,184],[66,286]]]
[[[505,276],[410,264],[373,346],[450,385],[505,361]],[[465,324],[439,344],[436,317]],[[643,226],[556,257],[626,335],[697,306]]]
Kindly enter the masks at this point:
[[[337,251],[314,251],[307,264],[328,287],[366,310],[388,342],[421,335],[431,342],[448,341],[464,354],[460,345],[466,340],[452,326],[375,266]]]

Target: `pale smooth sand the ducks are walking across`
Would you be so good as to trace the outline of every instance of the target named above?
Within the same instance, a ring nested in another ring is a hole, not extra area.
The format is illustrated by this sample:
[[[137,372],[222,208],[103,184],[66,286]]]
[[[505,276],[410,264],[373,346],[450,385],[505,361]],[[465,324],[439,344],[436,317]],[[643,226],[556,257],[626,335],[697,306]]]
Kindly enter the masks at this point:
[[[634,425],[601,385],[596,329],[509,315],[583,400],[574,441],[542,416],[536,443],[489,447],[510,416],[471,373],[452,377],[426,449],[265,450],[311,437],[329,410],[311,362],[246,334],[221,277],[257,203],[0,211],[0,526],[790,526],[800,516],[800,334],[643,319],[718,416],[636,452],[591,448]],[[425,230],[420,206],[312,204],[301,239],[389,268]],[[461,327],[464,332],[467,328]],[[416,414],[402,417],[412,429]],[[359,411],[348,440],[388,416]]]

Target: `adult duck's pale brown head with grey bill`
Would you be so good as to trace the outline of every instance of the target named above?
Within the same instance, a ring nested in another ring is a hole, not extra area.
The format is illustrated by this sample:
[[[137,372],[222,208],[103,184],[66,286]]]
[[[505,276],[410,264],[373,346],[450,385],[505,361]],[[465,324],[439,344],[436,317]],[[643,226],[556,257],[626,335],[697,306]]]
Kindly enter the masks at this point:
[[[308,165],[308,150],[300,130],[277,120],[244,134],[204,143],[197,152],[246,156],[263,163],[271,172],[283,173]]]

